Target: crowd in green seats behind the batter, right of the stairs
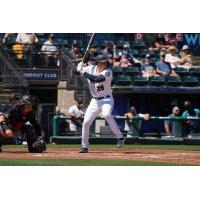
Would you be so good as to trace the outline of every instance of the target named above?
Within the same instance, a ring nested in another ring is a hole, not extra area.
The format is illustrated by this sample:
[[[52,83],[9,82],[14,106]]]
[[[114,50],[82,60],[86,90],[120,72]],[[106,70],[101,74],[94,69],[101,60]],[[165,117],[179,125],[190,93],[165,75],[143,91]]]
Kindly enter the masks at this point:
[[[95,57],[99,53],[108,57],[110,66],[113,68],[137,67],[139,68],[139,75],[147,78],[157,76],[178,77],[176,68],[189,70],[195,66],[189,46],[183,45],[181,49],[178,49],[173,34],[158,34],[154,46],[149,48],[145,46],[142,50],[137,47],[134,49],[128,42],[121,46],[112,41],[105,41],[100,46],[94,44],[87,55],[87,64],[94,64]],[[75,63],[81,60],[83,52],[81,52],[77,43],[72,44],[70,56]]]

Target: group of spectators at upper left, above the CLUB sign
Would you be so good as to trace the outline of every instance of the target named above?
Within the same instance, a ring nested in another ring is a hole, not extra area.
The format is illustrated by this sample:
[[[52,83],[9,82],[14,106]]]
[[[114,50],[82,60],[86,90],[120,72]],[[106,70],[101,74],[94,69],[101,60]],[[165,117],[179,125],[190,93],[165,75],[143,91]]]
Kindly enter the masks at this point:
[[[40,34],[35,33],[5,33],[0,43],[17,64],[26,60],[25,65],[28,63],[26,67],[29,68],[37,65],[38,61],[43,68],[59,66],[59,45],[54,41],[54,34],[45,35],[42,43],[39,37]]]

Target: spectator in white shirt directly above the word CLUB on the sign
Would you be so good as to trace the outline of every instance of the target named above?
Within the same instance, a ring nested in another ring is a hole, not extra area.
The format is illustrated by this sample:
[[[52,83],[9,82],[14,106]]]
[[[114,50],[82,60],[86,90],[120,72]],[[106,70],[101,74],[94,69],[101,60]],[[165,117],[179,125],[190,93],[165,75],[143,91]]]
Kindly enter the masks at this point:
[[[55,45],[53,34],[49,35],[48,40],[43,44],[41,51],[43,52],[46,67],[57,66],[59,52]]]

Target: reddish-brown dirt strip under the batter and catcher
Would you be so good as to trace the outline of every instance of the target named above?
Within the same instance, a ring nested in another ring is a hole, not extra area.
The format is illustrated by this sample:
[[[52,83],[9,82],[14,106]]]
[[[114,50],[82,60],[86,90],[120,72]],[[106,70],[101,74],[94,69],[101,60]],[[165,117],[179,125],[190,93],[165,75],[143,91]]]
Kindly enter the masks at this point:
[[[198,151],[126,148],[92,148],[87,154],[79,154],[78,151],[77,148],[49,148],[44,153],[30,154],[26,148],[3,148],[0,159],[143,160],[200,165],[200,152]]]

